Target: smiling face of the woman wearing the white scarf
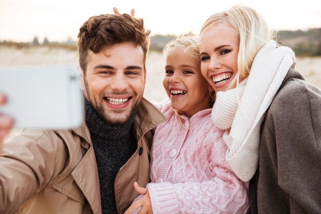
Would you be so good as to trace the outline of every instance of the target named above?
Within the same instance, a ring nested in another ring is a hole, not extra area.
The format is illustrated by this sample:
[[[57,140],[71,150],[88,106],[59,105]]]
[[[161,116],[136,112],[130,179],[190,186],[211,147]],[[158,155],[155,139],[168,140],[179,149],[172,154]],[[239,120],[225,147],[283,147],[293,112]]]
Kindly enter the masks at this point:
[[[209,27],[199,37],[200,69],[211,87],[226,91],[237,74],[238,34],[230,26]]]

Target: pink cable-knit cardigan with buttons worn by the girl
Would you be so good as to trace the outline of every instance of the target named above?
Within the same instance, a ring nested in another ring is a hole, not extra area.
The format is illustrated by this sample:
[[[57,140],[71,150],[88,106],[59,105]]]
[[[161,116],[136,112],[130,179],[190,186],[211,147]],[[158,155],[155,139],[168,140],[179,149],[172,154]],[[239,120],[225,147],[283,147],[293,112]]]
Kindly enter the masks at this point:
[[[156,107],[167,121],[157,126],[151,150],[153,213],[246,213],[247,183],[225,159],[224,131],[213,125],[211,109],[180,115],[180,123],[169,100]]]

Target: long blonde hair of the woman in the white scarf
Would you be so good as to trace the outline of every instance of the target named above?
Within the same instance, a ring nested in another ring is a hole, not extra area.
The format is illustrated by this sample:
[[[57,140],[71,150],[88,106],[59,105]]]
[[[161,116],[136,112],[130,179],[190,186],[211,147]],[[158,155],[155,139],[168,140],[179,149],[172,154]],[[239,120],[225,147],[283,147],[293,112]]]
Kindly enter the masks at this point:
[[[274,34],[262,15],[245,6],[234,6],[227,11],[213,14],[200,29],[200,34],[220,24],[229,25],[239,36],[238,78],[234,80],[242,81],[249,75],[256,53],[273,39]]]

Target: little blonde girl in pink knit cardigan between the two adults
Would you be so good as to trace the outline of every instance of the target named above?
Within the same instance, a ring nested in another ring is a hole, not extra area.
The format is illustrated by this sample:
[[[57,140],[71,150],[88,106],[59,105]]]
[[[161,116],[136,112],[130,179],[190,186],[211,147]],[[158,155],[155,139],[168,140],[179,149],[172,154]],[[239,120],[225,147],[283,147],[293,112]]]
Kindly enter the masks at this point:
[[[125,214],[246,213],[247,183],[226,161],[224,131],[213,125],[213,101],[200,72],[194,36],[178,37],[164,49],[164,88],[169,99],[156,105],[167,121],[155,129],[151,183],[134,183],[141,194]]]

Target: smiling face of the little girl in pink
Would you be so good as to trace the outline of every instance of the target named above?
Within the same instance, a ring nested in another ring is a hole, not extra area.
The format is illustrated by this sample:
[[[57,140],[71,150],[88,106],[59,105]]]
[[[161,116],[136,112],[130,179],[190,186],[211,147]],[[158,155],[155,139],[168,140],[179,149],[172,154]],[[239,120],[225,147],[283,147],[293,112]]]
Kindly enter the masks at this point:
[[[166,54],[163,85],[173,109],[190,118],[196,112],[210,108],[209,84],[195,57],[185,53],[184,48],[171,49]]]

